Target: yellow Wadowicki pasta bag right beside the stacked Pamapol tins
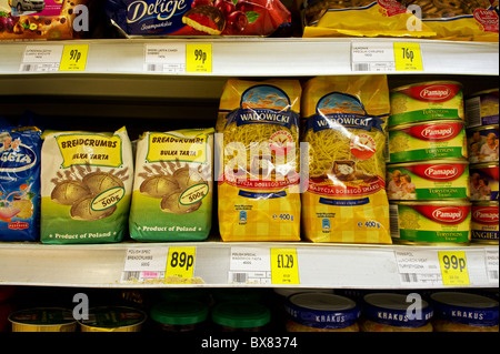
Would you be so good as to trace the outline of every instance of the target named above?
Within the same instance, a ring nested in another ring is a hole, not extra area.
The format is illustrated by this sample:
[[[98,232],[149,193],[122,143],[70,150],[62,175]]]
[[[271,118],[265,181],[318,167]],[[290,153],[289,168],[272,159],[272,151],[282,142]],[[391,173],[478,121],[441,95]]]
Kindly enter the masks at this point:
[[[391,243],[386,194],[386,75],[318,77],[303,87],[309,185],[302,223],[312,242]]]

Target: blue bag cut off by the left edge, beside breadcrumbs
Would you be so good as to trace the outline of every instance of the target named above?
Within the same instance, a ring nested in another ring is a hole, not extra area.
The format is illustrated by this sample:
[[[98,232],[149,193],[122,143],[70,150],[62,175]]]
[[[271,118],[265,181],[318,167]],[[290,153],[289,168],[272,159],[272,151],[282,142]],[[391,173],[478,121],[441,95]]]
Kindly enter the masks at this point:
[[[39,239],[41,131],[0,128],[0,241]]]

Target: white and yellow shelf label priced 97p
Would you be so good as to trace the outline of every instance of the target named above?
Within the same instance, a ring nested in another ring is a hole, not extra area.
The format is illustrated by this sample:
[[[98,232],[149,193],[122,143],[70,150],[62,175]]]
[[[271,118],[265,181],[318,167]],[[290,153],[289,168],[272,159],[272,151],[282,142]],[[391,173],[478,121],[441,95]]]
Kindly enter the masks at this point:
[[[20,72],[84,71],[88,44],[29,44],[24,48]]]

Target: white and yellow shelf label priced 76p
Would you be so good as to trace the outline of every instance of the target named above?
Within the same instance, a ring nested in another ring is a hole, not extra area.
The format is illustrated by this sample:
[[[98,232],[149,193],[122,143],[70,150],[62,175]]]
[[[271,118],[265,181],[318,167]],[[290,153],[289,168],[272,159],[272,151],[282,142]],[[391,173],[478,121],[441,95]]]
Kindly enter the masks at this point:
[[[353,72],[423,71],[419,43],[354,42],[351,65]]]

